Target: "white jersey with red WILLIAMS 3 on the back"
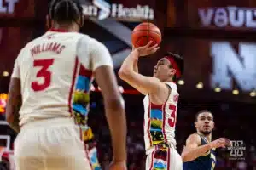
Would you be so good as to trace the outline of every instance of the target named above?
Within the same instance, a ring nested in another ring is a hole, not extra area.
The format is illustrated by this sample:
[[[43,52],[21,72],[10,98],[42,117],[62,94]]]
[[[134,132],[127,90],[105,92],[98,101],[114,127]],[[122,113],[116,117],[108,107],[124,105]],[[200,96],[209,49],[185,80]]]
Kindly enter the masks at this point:
[[[27,43],[12,74],[21,82],[20,126],[37,119],[87,116],[92,74],[102,65],[113,68],[108,49],[84,34],[49,30]]]

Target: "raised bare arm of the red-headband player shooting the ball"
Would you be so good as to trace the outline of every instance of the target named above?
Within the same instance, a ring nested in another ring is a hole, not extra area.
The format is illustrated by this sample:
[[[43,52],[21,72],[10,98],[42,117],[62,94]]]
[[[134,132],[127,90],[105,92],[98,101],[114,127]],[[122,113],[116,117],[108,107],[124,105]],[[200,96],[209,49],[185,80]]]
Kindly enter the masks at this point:
[[[153,54],[158,48],[156,46],[149,48],[150,43],[143,47],[144,51],[147,51],[148,54]],[[134,49],[130,55],[125,59],[123,65],[119,69],[119,77],[130,84],[133,88],[136,88],[142,94],[154,94],[159,89],[167,89],[166,85],[158,78],[155,77],[146,77],[139,74],[134,65],[136,65],[137,59],[144,51],[141,51],[141,48]],[[147,55],[148,55],[147,54]]]

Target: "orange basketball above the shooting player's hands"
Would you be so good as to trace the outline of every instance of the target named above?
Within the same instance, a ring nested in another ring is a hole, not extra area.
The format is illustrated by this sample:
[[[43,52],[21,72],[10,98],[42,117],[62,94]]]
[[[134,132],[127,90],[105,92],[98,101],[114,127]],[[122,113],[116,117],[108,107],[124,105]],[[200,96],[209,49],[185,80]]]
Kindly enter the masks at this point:
[[[152,41],[151,46],[154,44],[160,45],[162,36],[160,29],[152,23],[143,22],[136,26],[131,33],[131,42],[135,48],[142,47]]]

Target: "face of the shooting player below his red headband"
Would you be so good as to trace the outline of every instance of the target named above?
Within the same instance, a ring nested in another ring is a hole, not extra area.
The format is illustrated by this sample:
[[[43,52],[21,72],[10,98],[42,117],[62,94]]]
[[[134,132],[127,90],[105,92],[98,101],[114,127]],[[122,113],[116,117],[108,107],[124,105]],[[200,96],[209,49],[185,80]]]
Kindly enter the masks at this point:
[[[170,76],[172,76],[172,68],[170,68],[170,61],[166,58],[160,59],[154,66],[154,77],[160,79],[161,82],[165,82]],[[173,72],[174,74],[175,72]]]

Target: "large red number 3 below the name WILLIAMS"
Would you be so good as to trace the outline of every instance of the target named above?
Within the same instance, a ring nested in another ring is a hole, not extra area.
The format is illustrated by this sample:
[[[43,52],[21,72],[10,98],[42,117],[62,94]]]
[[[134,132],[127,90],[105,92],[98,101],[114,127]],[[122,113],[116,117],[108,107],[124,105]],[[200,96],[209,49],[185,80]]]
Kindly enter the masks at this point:
[[[49,71],[49,66],[53,65],[54,59],[36,59],[34,60],[34,67],[41,67],[41,69],[37,72],[37,77],[44,78],[43,83],[39,83],[37,81],[32,82],[31,88],[35,91],[42,91],[45,88],[48,88],[51,82],[51,71]]]

